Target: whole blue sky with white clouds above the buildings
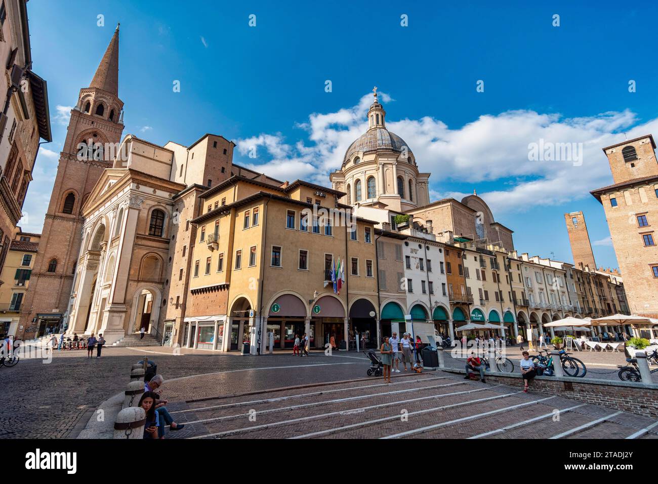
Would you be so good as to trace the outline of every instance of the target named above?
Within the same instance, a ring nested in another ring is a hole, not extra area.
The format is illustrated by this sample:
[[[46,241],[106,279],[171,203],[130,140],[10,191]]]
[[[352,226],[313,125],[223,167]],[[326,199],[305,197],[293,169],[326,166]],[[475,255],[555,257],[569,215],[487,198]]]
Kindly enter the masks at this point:
[[[365,131],[376,85],[388,128],[432,173],[434,198],[461,200],[476,188],[497,221],[515,230],[517,250],[566,261],[563,214],[582,210],[597,263],[617,267],[603,209],[588,192],[612,182],[601,148],[624,133],[658,133],[656,7],[573,3],[199,2],[192,9],[173,1],[32,0],[32,57],[48,82],[53,143],[41,148],[22,227],[41,230],[68,111],[120,21],[124,134],[191,144],[213,132],[238,144],[236,163],[328,184],[349,142]],[[99,14],[105,26],[97,26]],[[540,140],[582,143],[580,161],[530,161],[528,144]],[[255,159],[247,156],[251,146]]]

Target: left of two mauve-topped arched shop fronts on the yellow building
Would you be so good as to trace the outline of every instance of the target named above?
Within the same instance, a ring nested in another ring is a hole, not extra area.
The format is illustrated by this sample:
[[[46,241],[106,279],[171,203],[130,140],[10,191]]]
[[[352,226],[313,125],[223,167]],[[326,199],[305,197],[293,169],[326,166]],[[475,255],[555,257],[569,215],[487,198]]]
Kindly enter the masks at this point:
[[[291,349],[295,338],[303,336],[306,305],[293,294],[282,294],[274,300],[267,316],[267,334],[274,333],[274,350]],[[269,339],[265,340],[269,344]],[[311,340],[313,346],[313,339]],[[269,350],[270,348],[266,348]]]

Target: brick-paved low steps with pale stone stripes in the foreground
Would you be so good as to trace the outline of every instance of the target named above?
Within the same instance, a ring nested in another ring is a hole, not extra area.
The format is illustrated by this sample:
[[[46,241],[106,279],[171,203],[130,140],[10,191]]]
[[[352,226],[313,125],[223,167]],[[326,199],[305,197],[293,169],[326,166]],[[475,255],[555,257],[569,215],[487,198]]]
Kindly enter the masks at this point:
[[[205,377],[211,385],[213,377]],[[168,391],[178,389],[172,382]],[[440,371],[396,374],[336,385],[167,405],[182,431],[175,439],[255,438],[608,438],[622,439],[655,420],[559,396],[465,381]],[[556,418],[558,416],[559,418]],[[640,438],[655,438],[651,429]]]

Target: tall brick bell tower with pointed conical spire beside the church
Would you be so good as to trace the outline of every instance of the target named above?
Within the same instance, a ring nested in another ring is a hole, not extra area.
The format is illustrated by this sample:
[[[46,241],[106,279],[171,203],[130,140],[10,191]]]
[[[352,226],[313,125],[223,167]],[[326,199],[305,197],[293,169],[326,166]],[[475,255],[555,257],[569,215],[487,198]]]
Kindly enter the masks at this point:
[[[49,328],[55,331],[66,323],[82,238],[82,205],[103,170],[112,167],[113,150],[107,149],[108,144],[118,144],[124,128],[118,74],[117,25],[91,84],[80,90],[71,110],[18,337],[42,336]]]

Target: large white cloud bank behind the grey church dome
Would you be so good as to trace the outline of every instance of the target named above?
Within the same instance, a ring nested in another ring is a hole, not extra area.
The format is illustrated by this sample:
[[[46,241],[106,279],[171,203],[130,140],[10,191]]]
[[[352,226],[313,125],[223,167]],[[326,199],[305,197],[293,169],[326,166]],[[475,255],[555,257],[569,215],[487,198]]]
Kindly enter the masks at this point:
[[[601,148],[624,140],[620,130],[629,139],[658,131],[658,119],[635,125],[636,116],[628,110],[578,118],[506,111],[449,128],[429,116],[401,119],[404,109],[392,104],[390,95],[381,93],[379,99],[387,111],[387,128],[407,142],[420,171],[433,173],[433,200],[442,196],[459,200],[464,195],[443,193],[449,182],[469,182],[477,188],[478,183],[499,181],[497,190],[478,190],[497,215],[590,196],[590,190],[611,183]],[[341,167],[349,145],[367,130],[365,114],[370,103],[372,94],[367,94],[353,107],[311,113],[307,121],[297,124],[307,132],[306,139],[294,144],[281,134],[261,133],[238,140],[238,151],[247,155],[249,146],[264,146],[270,159],[263,159],[259,152],[254,161],[263,162],[253,163],[253,169],[282,178],[283,173],[294,171],[302,163],[311,181],[329,184],[328,174]],[[395,115],[397,121],[392,121]],[[531,144],[573,144],[578,156],[568,161],[530,161]],[[296,175],[291,178],[300,178],[303,173]]]

